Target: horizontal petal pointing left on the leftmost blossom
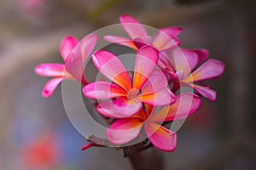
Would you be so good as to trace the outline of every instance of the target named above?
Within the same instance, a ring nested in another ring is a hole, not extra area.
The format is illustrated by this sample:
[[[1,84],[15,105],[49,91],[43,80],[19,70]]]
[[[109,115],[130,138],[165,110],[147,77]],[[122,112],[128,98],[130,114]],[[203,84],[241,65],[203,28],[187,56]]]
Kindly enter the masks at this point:
[[[35,72],[42,77],[63,77],[65,65],[61,64],[41,64],[36,66]]]

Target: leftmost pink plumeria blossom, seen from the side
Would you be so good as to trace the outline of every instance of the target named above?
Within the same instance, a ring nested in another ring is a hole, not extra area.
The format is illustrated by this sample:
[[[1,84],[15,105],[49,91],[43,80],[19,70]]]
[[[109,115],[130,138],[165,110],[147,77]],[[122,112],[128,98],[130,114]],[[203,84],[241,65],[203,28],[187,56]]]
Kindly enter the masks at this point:
[[[39,76],[54,77],[45,84],[42,92],[43,97],[50,97],[63,79],[87,84],[83,73],[84,62],[90,56],[96,41],[97,36],[95,34],[84,37],[81,42],[76,37],[65,37],[60,47],[61,57],[65,64],[45,63],[35,68],[35,72]]]

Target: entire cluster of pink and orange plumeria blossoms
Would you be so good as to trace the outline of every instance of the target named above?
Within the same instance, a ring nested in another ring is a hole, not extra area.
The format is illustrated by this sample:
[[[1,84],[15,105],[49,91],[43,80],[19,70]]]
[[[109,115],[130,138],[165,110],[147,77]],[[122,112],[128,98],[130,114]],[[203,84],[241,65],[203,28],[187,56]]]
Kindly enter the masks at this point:
[[[115,54],[94,51],[96,34],[81,42],[66,37],[61,42],[65,64],[42,64],[35,69],[40,76],[54,77],[42,95],[53,94],[63,79],[81,82],[84,96],[96,100],[96,111],[112,120],[106,132],[110,144],[119,147],[137,141],[160,150],[175,150],[177,134],[166,124],[195,113],[201,106],[201,97],[216,99],[217,93],[202,81],[221,76],[224,63],[216,59],[205,61],[207,49],[179,48],[177,36],[182,28],[162,28],[150,37],[143,25],[127,14],[120,17],[120,23],[129,37],[106,35],[104,39],[136,50],[133,71],[127,71]],[[100,81],[88,82],[84,77],[84,63],[90,54],[96,69],[105,77]],[[190,91],[183,92],[183,87]],[[94,142],[84,149],[103,144]]]

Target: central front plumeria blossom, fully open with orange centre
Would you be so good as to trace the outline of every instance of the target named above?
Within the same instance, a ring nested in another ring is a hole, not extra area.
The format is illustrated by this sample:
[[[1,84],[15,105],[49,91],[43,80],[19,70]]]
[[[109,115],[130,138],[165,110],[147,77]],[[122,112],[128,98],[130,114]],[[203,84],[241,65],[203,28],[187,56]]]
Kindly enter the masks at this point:
[[[137,51],[131,83],[128,71],[114,54],[97,51],[92,60],[98,71],[111,82],[92,82],[84,87],[84,95],[91,99],[110,99],[100,102],[97,111],[113,118],[131,116],[142,108],[143,103],[170,105],[175,96],[167,87],[166,76],[155,69],[158,55],[158,51],[149,45]]]

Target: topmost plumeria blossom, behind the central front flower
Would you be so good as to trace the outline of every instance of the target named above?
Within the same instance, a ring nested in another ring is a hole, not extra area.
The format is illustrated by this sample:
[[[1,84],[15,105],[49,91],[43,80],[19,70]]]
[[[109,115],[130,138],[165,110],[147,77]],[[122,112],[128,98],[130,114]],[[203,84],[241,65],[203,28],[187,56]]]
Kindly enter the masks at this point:
[[[177,35],[181,33],[181,27],[166,27],[159,29],[152,39],[144,26],[130,15],[124,14],[120,16],[119,21],[129,35],[129,38],[108,35],[104,37],[106,41],[134,48],[136,50],[142,48],[144,45],[150,44],[159,51],[165,50],[166,48],[177,47],[180,44]]]

